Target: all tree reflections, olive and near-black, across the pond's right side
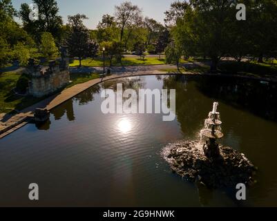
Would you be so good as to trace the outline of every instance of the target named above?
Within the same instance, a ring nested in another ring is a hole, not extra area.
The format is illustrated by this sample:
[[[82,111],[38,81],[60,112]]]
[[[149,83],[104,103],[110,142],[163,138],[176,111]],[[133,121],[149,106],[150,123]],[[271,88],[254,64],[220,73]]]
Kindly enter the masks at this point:
[[[195,133],[202,127],[202,120],[211,111],[213,100],[277,120],[276,84],[260,84],[260,81],[233,77],[185,75],[169,76],[163,81],[165,89],[176,90],[176,116],[186,135],[191,136],[193,131]]]

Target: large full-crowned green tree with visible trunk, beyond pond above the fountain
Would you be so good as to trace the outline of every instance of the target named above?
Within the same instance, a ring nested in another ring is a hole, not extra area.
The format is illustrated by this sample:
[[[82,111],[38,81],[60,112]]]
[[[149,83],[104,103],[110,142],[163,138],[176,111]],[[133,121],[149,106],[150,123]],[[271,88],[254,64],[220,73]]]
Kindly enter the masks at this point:
[[[233,0],[191,0],[183,19],[173,28],[173,37],[185,56],[211,57],[211,71],[231,50],[236,5]]]

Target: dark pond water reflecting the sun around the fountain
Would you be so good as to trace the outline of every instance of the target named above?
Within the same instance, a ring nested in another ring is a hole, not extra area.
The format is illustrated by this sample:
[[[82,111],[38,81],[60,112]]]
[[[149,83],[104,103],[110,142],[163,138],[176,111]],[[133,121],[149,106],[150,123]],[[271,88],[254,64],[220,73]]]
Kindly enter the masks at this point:
[[[176,89],[176,118],[104,115],[102,88]],[[277,206],[277,86],[249,79],[144,76],[93,86],[0,140],[0,206]],[[169,142],[198,138],[220,102],[222,144],[258,166],[238,202],[236,186],[209,190],[180,179],[162,159]],[[28,200],[30,183],[39,201]]]

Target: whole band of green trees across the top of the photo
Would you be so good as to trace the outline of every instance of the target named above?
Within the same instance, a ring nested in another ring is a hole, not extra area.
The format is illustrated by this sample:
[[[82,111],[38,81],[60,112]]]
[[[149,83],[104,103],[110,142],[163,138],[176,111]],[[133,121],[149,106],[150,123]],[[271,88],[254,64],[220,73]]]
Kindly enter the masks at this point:
[[[225,57],[263,62],[277,57],[277,1],[275,0],[187,0],[173,1],[164,12],[164,24],[144,17],[142,9],[124,1],[113,15],[103,15],[97,27],[88,30],[86,15],[68,16],[63,24],[56,0],[32,0],[37,19],[30,19],[31,8],[22,3],[19,12],[12,1],[0,1],[0,63],[13,60],[26,64],[28,57],[55,57],[57,48],[69,46],[71,57],[81,65],[86,57],[106,55],[122,61],[125,53],[166,54],[166,61],[178,64],[180,57],[211,60],[211,71]],[[246,20],[236,19],[238,3],[246,6]],[[21,19],[21,23],[15,21]]]

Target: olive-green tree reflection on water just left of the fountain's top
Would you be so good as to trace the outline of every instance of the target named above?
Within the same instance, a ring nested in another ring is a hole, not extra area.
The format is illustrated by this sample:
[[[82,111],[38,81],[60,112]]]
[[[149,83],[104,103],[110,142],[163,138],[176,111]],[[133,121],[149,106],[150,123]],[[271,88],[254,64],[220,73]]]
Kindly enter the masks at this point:
[[[190,84],[187,84],[190,82]],[[185,75],[173,75],[164,78],[164,89],[176,91],[176,117],[180,123],[182,132],[190,138],[202,127],[203,120],[209,110],[203,107],[211,106],[207,99],[195,88],[195,77]],[[168,102],[169,104],[169,102]],[[201,120],[200,120],[201,119]]]

